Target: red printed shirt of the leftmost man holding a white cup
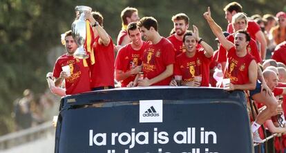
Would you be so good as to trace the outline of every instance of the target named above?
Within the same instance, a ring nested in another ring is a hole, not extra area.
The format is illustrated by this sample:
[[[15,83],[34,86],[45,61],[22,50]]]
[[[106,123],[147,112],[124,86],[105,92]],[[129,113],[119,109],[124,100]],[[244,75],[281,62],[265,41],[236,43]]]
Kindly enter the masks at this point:
[[[84,67],[82,59],[75,59],[67,54],[61,55],[55,63],[53,76],[59,77],[63,66],[70,66],[70,76],[66,81],[66,94],[79,94],[90,91],[90,72],[88,67]]]

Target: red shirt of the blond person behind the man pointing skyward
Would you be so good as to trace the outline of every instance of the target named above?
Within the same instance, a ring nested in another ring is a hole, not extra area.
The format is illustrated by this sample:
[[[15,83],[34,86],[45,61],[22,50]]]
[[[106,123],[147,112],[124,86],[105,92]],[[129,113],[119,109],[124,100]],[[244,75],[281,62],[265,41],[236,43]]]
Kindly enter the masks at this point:
[[[229,35],[227,37],[227,40],[234,43],[233,34]],[[254,56],[256,63],[260,63],[262,61],[256,45],[256,41],[254,41],[254,39],[251,39],[249,41],[249,44],[247,45],[247,52],[252,56]],[[227,50],[225,50],[225,48],[223,48],[223,46],[220,44],[220,48],[218,50],[218,62],[226,62],[226,61],[227,61]]]

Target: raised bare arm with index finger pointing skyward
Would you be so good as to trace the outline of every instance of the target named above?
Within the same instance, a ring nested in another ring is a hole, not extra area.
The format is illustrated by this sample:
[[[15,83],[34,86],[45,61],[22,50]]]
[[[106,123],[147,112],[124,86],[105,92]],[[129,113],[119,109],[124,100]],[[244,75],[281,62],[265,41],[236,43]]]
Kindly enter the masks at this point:
[[[216,35],[216,37],[218,38],[218,40],[220,41],[222,46],[226,50],[231,49],[234,46],[234,44],[225,38],[225,35],[223,35],[223,33],[222,33],[222,28],[220,28],[220,26],[218,26],[218,24],[215,21],[213,21],[213,19],[211,18],[211,10],[209,7],[208,7],[208,11],[204,12],[204,18],[209,23],[209,27],[213,31],[213,34]]]

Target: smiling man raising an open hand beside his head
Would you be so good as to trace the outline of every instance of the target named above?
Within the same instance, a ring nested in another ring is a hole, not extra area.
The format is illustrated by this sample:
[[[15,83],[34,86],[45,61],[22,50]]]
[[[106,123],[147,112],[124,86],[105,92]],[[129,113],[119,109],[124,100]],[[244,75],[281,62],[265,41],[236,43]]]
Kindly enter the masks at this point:
[[[199,37],[198,28],[193,26],[193,32],[187,32],[183,37],[186,52],[179,54],[175,59],[176,77],[182,78],[182,85],[191,87],[209,87],[209,64],[213,56],[213,48]],[[196,46],[202,45],[198,49]],[[196,77],[201,78],[197,80]],[[171,85],[177,85],[172,81]]]

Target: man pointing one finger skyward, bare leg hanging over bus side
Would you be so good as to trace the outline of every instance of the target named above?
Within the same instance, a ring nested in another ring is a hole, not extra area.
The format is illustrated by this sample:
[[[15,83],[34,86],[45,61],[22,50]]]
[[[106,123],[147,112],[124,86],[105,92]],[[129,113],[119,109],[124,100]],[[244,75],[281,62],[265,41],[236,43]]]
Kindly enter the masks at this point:
[[[247,52],[247,45],[251,37],[245,30],[238,30],[234,37],[234,43],[231,43],[222,34],[220,26],[211,18],[210,8],[208,8],[207,12],[204,12],[204,18],[207,19],[213,34],[216,35],[222,46],[228,51],[225,78],[230,79],[231,83],[229,83],[229,89],[227,90],[249,90],[250,97],[254,101],[260,101],[267,106],[265,110],[258,114],[256,121],[251,125],[254,142],[260,143],[261,139],[257,130],[267,119],[277,114],[276,108],[278,103],[273,95],[269,95],[265,91],[260,92],[261,84],[257,83],[258,70],[256,61]]]

